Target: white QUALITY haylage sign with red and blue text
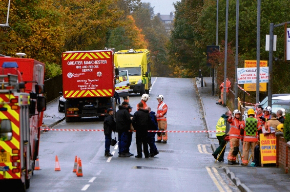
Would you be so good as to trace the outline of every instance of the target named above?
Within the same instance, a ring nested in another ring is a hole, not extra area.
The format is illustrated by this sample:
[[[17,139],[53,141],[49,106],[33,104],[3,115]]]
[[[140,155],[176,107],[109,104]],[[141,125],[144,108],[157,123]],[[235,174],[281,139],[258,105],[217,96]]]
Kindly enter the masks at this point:
[[[238,84],[257,83],[257,68],[238,68]],[[260,83],[268,82],[269,68],[260,67]]]

